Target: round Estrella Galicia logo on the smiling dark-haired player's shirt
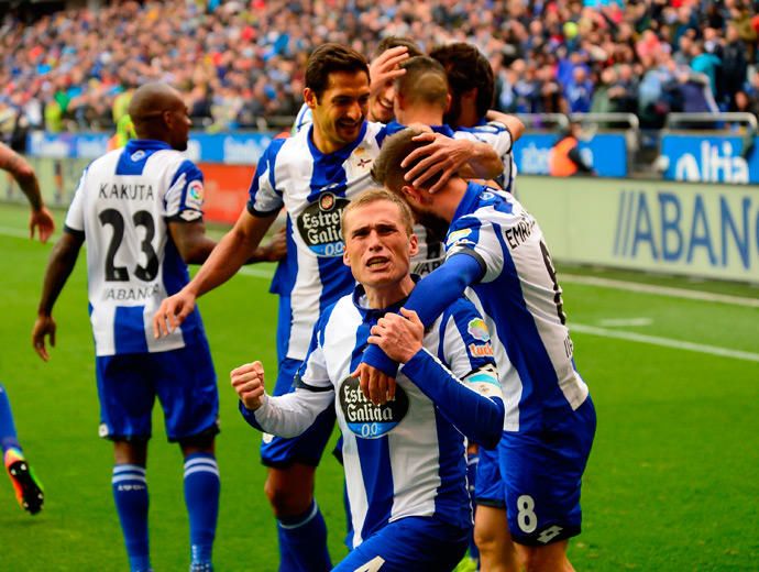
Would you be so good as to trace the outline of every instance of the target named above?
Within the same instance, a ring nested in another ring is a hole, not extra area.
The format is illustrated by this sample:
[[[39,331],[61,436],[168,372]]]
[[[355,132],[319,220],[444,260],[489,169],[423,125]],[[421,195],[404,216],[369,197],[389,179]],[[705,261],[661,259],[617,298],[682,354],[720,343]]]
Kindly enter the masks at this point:
[[[341,218],[349,200],[333,193],[322,191],[298,217],[298,232],[306,246],[317,256],[342,256]]]

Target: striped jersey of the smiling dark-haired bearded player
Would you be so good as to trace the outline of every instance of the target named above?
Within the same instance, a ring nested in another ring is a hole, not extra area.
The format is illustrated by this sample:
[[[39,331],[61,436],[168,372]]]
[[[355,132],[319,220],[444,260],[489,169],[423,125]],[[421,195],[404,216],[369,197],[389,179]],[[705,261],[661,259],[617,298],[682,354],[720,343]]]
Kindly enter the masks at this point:
[[[370,176],[380,153],[383,125],[365,122],[356,141],[321,153],[311,129],[274,140],[258,161],[248,210],[253,216],[287,209],[287,257],[277,267],[273,292],[279,294],[280,358],[302,360],[321,312],[353,290],[355,280],[342,262],[342,211],[360,193],[375,186]],[[289,327],[288,327],[289,326]]]

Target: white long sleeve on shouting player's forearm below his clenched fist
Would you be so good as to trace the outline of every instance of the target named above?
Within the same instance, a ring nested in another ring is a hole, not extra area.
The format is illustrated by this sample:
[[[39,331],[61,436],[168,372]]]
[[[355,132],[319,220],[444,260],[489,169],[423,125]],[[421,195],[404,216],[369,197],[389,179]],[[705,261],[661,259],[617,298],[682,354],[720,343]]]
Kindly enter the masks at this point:
[[[256,429],[278,437],[297,437],[314,425],[317,416],[332,407],[332,392],[315,393],[296,389],[279,397],[264,396],[264,403],[250,410],[240,402],[243,418]]]

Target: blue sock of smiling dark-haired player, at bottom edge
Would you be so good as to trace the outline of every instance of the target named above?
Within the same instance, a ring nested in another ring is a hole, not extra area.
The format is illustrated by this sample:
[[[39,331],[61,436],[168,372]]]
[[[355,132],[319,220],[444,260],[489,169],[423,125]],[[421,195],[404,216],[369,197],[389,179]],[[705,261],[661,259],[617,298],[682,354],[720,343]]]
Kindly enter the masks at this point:
[[[277,520],[280,572],[332,570],[327,551],[327,525],[316,501],[302,515]]]

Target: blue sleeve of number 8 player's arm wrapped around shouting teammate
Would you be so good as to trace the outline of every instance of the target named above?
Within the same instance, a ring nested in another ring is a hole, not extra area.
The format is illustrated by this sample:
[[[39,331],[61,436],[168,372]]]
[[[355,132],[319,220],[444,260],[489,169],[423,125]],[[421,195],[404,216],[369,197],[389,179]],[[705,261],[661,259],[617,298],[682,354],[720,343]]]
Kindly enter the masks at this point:
[[[455,254],[419,280],[404,308],[416,311],[425,328],[429,328],[436,318],[461,297],[468,286],[480,280],[484,273],[483,262],[474,251],[471,255],[469,252]],[[398,364],[375,344],[366,348],[361,361],[393,378],[398,373]]]

